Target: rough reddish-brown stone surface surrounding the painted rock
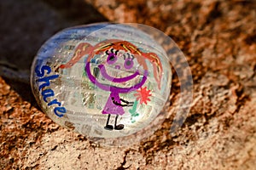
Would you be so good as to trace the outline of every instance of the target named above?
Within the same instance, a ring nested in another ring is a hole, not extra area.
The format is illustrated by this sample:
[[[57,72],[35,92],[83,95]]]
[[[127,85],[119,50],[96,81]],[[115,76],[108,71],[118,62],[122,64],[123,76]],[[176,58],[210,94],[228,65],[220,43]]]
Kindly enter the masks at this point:
[[[255,169],[255,8],[255,1],[0,1],[0,169]],[[170,116],[123,148],[59,127],[36,104],[26,79],[40,45],[67,26],[108,20],[154,26],[186,55],[194,100],[172,136],[175,75]]]

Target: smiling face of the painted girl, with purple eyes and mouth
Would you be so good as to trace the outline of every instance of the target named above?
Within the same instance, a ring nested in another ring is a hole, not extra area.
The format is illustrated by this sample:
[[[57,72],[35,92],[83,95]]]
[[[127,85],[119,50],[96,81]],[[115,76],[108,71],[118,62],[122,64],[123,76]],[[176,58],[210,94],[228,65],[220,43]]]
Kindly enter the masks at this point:
[[[89,78],[90,71],[97,71],[97,74],[94,74],[94,80],[90,78],[90,81],[99,88],[108,86],[108,91],[119,93],[124,93],[124,89],[126,89],[125,93],[134,91],[143,86],[148,76],[148,71],[138,63],[134,54],[125,50],[109,48],[101,54],[96,54],[90,63],[93,63],[92,60],[97,60],[97,64],[93,64],[94,68],[90,70],[85,68],[85,70]]]

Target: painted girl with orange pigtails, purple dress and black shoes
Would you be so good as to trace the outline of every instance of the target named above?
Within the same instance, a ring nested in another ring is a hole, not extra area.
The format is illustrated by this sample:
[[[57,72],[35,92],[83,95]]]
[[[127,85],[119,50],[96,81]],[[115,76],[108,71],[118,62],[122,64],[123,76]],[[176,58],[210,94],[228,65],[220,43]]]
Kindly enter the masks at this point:
[[[117,124],[118,117],[125,114],[124,107],[131,107],[134,103],[121,99],[119,94],[128,94],[143,87],[148,77],[146,59],[153,65],[154,79],[158,84],[158,88],[160,88],[162,77],[160,59],[154,53],[143,53],[131,42],[111,39],[99,42],[95,46],[87,42],[79,43],[77,48],[75,48],[73,58],[67,64],[61,65],[60,68],[70,68],[86,55],[88,55],[88,58],[85,61],[84,70],[90,82],[94,83],[98,88],[110,92],[102,110],[102,114],[108,115],[104,128],[107,130],[121,130],[124,128],[124,125]],[[92,63],[95,62],[92,60],[96,59],[101,60],[101,62],[93,68]],[[113,75],[113,70],[117,75]],[[109,83],[101,82],[92,71],[97,71],[97,74],[101,74]],[[125,74],[122,71],[125,71]],[[126,76],[126,74],[128,75]],[[115,115],[113,125],[109,124],[111,115]]]

